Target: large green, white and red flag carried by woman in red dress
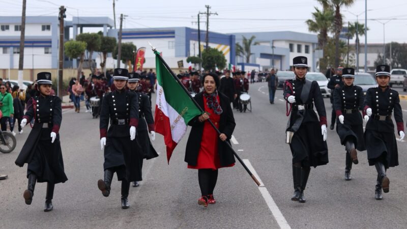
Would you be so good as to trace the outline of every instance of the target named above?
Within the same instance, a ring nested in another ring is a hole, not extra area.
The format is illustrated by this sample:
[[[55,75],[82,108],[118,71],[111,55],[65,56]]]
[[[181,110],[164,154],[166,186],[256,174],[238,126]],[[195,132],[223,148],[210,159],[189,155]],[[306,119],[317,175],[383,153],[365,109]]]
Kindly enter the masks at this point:
[[[183,89],[178,79],[167,69],[156,51],[157,100],[154,126],[157,133],[164,135],[167,160],[187,132],[187,124],[201,111]]]

